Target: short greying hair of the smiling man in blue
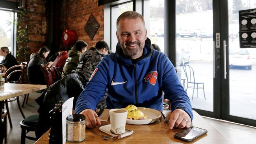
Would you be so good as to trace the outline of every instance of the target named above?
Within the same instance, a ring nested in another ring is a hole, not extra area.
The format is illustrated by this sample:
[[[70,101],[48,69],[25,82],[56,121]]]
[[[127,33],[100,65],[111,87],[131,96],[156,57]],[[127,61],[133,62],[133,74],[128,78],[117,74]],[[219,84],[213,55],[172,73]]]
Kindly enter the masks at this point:
[[[141,14],[137,13],[136,11],[126,11],[126,12],[122,13],[117,18],[117,30],[118,30],[118,23],[119,23],[120,20],[122,20],[122,19],[136,19],[136,18],[140,18],[143,22],[144,28],[146,28],[144,18],[142,17]]]

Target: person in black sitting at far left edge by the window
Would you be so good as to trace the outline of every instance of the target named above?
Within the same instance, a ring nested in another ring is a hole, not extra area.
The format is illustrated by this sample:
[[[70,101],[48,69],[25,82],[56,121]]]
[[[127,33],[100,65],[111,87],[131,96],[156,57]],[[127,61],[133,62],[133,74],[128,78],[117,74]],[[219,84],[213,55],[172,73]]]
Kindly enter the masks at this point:
[[[11,53],[9,52],[9,48],[7,48],[6,46],[0,49],[0,55],[4,57],[0,64],[6,66],[6,69],[10,68],[11,66],[17,65],[16,58],[11,55]]]

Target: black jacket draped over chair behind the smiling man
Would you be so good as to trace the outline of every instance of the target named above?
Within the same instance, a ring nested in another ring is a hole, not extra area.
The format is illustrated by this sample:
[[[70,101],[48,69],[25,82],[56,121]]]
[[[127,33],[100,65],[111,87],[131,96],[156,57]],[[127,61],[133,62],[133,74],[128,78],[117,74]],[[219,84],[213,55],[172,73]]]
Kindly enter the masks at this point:
[[[77,74],[68,74],[61,80],[50,85],[39,98],[35,101],[39,104],[39,120],[36,127],[36,137],[41,137],[51,127],[49,111],[63,100],[63,103],[69,98],[74,97],[73,109],[76,105],[76,100],[83,91],[83,85]]]

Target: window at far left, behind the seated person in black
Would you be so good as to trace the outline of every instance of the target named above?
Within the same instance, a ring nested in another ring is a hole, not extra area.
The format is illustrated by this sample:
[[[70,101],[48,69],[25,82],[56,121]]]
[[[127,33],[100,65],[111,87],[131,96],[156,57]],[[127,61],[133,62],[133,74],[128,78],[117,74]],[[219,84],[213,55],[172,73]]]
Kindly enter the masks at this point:
[[[0,47],[7,46],[9,51],[13,54],[16,48],[13,48],[13,20],[14,12],[0,10]],[[0,61],[3,57],[0,56]]]

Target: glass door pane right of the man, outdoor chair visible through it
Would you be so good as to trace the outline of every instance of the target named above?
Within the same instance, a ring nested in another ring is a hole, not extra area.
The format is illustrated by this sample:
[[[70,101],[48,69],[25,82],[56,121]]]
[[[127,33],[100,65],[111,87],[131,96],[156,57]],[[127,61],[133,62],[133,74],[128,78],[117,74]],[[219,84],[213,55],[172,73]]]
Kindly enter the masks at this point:
[[[212,0],[176,0],[176,67],[192,107],[213,112]]]

